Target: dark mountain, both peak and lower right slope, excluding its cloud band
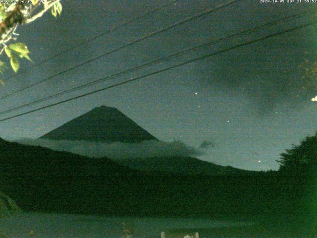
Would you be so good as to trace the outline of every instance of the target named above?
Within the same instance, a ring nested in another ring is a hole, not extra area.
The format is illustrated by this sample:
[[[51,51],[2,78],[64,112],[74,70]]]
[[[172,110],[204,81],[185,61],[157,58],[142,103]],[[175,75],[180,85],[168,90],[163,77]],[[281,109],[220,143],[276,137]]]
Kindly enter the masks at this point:
[[[40,137],[50,140],[138,143],[157,140],[116,108],[101,106],[72,119]],[[162,148],[163,149],[163,148]],[[110,158],[113,159],[113,158]],[[236,175],[254,172],[224,167],[189,156],[113,159],[116,163],[147,173],[179,175]]]

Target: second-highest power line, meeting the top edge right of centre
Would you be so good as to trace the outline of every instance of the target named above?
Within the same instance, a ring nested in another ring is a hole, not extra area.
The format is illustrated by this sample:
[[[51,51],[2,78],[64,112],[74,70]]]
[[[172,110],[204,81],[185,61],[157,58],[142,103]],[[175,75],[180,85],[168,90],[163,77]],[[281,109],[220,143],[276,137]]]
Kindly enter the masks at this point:
[[[209,13],[212,13],[212,12],[214,12],[214,11],[220,10],[220,9],[222,9],[222,8],[224,8],[224,7],[227,7],[227,6],[231,5],[231,4],[234,4],[234,3],[238,2],[238,1],[241,1],[241,0],[229,0],[229,1],[227,1],[227,2],[225,2],[225,3],[222,3],[222,4],[219,4],[219,5],[217,5],[217,6],[213,7],[213,8],[209,8],[209,9],[203,11],[203,12],[200,12],[200,13],[197,13],[197,14],[195,14],[195,15],[193,15],[193,16],[187,17],[187,18],[185,18],[184,20],[181,20],[181,21],[178,21],[178,22],[176,22],[176,23],[173,23],[173,24],[171,24],[171,25],[169,25],[169,26],[167,26],[167,27],[161,28],[161,29],[159,29],[159,30],[157,30],[157,31],[155,31],[155,32],[151,32],[151,33],[149,33],[149,34],[147,34],[147,35],[144,35],[144,36],[142,36],[141,38],[138,38],[137,40],[131,41],[131,42],[129,42],[129,43],[123,45],[123,46],[120,46],[120,47],[117,47],[117,48],[112,49],[112,50],[110,50],[110,51],[107,51],[106,53],[104,53],[104,54],[102,54],[102,55],[100,55],[100,56],[97,56],[97,57],[95,57],[95,58],[92,58],[92,59],[90,59],[90,60],[87,60],[87,61],[85,61],[85,62],[82,62],[82,63],[80,63],[80,64],[77,64],[77,65],[75,65],[75,66],[72,66],[72,67],[70,67],[70,68],[68,68],[68,69],[65,69],[65,70],[61,71],[61,72],[58,72],[58,73],[56,73],[56,74],[53,74],[52,76],[47,77],[47,78],[45,78],[45,79],[43,79],[43,80],[41,80],[41,81],[39,81],[39,82],[36,82],[36,83],[31,84],[31,85],[29,85],[29,86],[27,86],[27,87],[24,87],[24,88],[22,88],[22,89],[19,89],[19,90],[17,90],[17,91],[14,91],[14,92],[12,92],[12,93],[6,95],[6,96],[0,97],[0,99],[4,99],[4,98],[9,97],[9,96],[11,96],[11,95],[13,95],[13,94],[22,92],[22,91],[24,91],[24,90],[26,90],[26,89],[28,89],[28,88],[31,88],[31,87],[33,87],[33,86],[36,86],[36,85],[38,85],[38,84],[40,84],[40,83],[42,83],[42,82],[44,82],[44,81],[47,81],[47,80],[49,80],[49,79],[52,79],[52,78],[54,78],[54,77],[56,77],[56,76],[59,76],[59,75],[61,75],[61,74],[64,74],[64,73],[66,73],[66,72],[68,72],[68,71],[70,71],[70,70],[73,70],[73,69],[75,69],[75,68],[78,68],[78,67],[80,67],[80,66],[82,66],[82,65],[84,65],[84,64],[90,63],[90,62],[92,62],[92,61],[94,61],[94,60],[98,60],[98,59],[100,59],[100,58],[102,58],[102,57],[104,57],[104,56],[106,56],[106,55],[109,55],[109,54],[114,53],[114,52],[116,52],[116,51],[119,51],[119,50],[121,50],[121,49],[127,48],[127,47],[129,47],[129,46],[131,46],[131,45],[134,45],[135,43],[138,43],[138,42],[140,42],[140,41],[143,41],[143,40],[145,40],[145,39],[148,39],[148,38],[150,38],[150,37],[152,37],[152,36],[158,35],[159,33],[162,33],[162,32],[164,32],[164,31],[170,30],[170,29],[172,29],[172,28],[174,28],[174,27],[176,27],[176,26],[182,25],[182,24],[184,24],[184,23],[186,23],[186,22],[192,21],[192,20],[197,19],[197,18],[199,18],[199,17],[202,17],[202,16],[204,16],[204,15],[206,15],[206,14],[209,14]]]

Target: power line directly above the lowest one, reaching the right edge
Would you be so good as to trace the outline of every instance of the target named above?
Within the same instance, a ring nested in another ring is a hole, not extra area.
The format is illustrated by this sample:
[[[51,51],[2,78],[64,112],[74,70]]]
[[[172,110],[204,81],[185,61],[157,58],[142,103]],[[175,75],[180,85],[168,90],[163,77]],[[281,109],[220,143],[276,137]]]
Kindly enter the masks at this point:
[[[92,86],[92,85],[95,85],[95,84],[98,84],[98,83],[101,83],[101,82],[104,82],[104,81],[107,81],[107,80],[110,80],[110,79],[113,79],[113,78],[116,78],[116,77],[119,77],[119,76],[121,76],[123,74],[126,74],[126,73],[129,73],[129,72],[134,72],[134,71],[139,70],[141,68],[144,68],[146,66],[150,66],[150,65],[152,65],[154,63],[158,63],[158,62],[161,62],[161,61],[171,60],[171,59],[174,59],[176,57],[180,57],[180,56],[184,55],[185,53],[189,53],[191,51],[198,50],[199,48],[202,48],[202,47],[211,46],[211,45],[217,44],[219,42],[223,42],[225,40],[231,39],[231,38],[236,37],[236,36],[244,35],[246,33],[255,32],[255,31],[258,31],[258,30],[261,30],[261,29],[265,29],[268,26],[276,25],[278,23],[284,22],[285,20],[295,19],[295,18],[298,18],[298,17],[303,17],[303,16],[305,16],[305,14],[312,14],[312,13],[316,13],[316,12],[317,12],[317,10],[309,10],[309,11],[303,11],[303,12],[300,12],[300,13],[297,13],[297,14],[293,14],[293,15],[290,15],[290,16],[286,16],[286,17],[283,17],[281,19],[278,19],[278,20],[275,20],[275,21],[272,21],[272,22],[268,22],[268,23],[265,23],[265,24],[260,25],[260,26],[253,27],[251,29],[247,29],[247,30],[241,31],[241,32],[235,33],[233,35],[230,35],[230,36],[227,36],[227,37],[224,37],[224,38],[219,38],[217,40],[210,41],[208,43],[192,47],[192,48],[190,48],[188,50],[181,51],[181,52],[169,55],[167,57],[163,57],[163,58],[160,58],[160,59],[157,59],[157,60],[152,60],[152,61],[150,61],[148,63],[144,63],[142,65],[123,70],[123,71],[121,71],[119,73],[115,73],[115,74],[109,75],[109,76],[104,77],[102,79],[98,79],[98,80],[95,80],[95,81],[92,81],[92,82],[88,82],[88,83],[82,84],[80,86],[77,86],[77,87],[74,87],[74,88],[70,88],[70,89],[64,90],[62,92],[53,94],[51,96],[43,97],[43,98],[37,99],[37,100],[35,100],[33,102],[17,106],[15,108],[11,108],[11,109],[8,109],[6,111],[2,111],[2,112],[0,112],[0,115],[7,114],[9,112],[16,111],[18,109],[25,108],[25,107],[28,107],[28,106],[32,106],[34,104],[37,104],[37,103],[40,103],[40,102],[44,102],[44,101],[47,101],[49,99],[52,99],[52,98],[55,98],[55,97],[58,97],[58,96],[61,96],[61,95],[64,95],[64,94],[67,94],[67,93],[70,93],[70,92],[74,92],[74,91],[80,90],[82,88],[89,87],[89,86]]]

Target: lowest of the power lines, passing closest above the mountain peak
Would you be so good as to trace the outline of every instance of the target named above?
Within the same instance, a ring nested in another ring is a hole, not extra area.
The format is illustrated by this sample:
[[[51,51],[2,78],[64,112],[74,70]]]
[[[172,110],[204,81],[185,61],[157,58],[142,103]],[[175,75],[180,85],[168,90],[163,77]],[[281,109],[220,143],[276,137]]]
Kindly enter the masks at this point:
[[[285,34],[285,33],[288,33],[288,32],[292,32],[292,31],[295,31],[295,30],[298,30],[298,29],[301,29],[301,28],[304,28],[304,27],[308,27],[308,26],[314,25],[314,24],[317,24],[317,21],[306,23],[304,25],[297,26],[297,27],[292,27],[292,28],[284,30],[284,31],[279,31],[277,33],[273,33],[273,34],[264,36],[262,38],[258,38],[258,39],[251,40],[251,41],[247,41],[245,43],[241,43],[241,44],[238,44],[238,45],[235,45],[235,46],[232,46],[232,47],[220,50],[220,51],[216,51],[216,52],[211,53],[211,54],[207,54],[207,55],[204,55],[204,56],[192,59],[192,60],[188,60],[188,61],[176,64],[176,65],[173,65],[173,66],[158,70],[158,71],[154,71],[152,73],[148,73],[148,74],[145,74],[145,75],[142,75],[142,76],[139,76],[139,77],[135,77],[133,79],[126,80],[126,81],[121,82],[121,83],[110,85],[110,86],[107,86],[107,87],[104,87],[104,88],[101,88],[101,89],[98,89],[98,90],[95,90],[95,91],[92,91],[92,92],[89,92],[89,93],[85,93],[85,94],[82,94],[82,95],[79,95],[79,96],[76,96],[76,97],[72,97],[72,98],[69,98],[69,99],[66,99],[66,100],[63,100],[63,101],[59,101],[57,103],[53,103],[53,104],[50,104],[50,105],[47,105],[47,106],[44,106],[44,107],[40,107],[40,108],[31,110],[31,111],[28,111],[28,112],[25,112],[25,113],[21,113],[21,114],[15,115],[15,116],[11,116],[11,117],[8,117],[8,118],[0,119],[0,122],[8,120],[8,119],[21,117],[23,115],[27,115],[27,114],[30,114],[30,113],[33,113],[33,112],[37,112],[37,111],[40,111],[40,110],[43,110],[43,109],[46,109],[46,108],[50,108],[50,107],[53,107],[53,106],[56,106],[56,105],[59,105],[59,104],[63,104],[63,103],[66,103],[66,102],[69,102],[69,101],[72,101],[72,100],[75,100],[75,99],[78,99],[78,98],[86,97],[88,95],[95,94],[95,93],[98,93],[98,92],[101,92],[101,91],[105,91],[107,89],[114,88],[114,87],[117,87],[117,86],[120,86],[120,85],[124,85],[124,84],[130,83],[130,82],[133,82],[133,81],[145,78],[145,77],[149,77],[149,76],[164,72],[164,71],[168,71],[170,69],[173,69],[173,68],[176,68],[176,67],[179,67],[179,66],[183,66],[185,64],[188,64],[188,63],[191,63],[191,62],[194,62],[194,61],[197,61],[197,60],[203,60],[203,59],[209,58],[211,56],[215,56],[215,55],[218,55],[218,54],[221,54],[221,53],[225,53],[225,52],[231,51],[233,49],[240,48],[242,46],[250,45],[250,44],[253,44],[253,43],[256,43],[256,42],[259,42],[259,41],[263,41],[263,40],[269,39],[271,37],[275,37],[275,36],[282,35],[282,34]]]

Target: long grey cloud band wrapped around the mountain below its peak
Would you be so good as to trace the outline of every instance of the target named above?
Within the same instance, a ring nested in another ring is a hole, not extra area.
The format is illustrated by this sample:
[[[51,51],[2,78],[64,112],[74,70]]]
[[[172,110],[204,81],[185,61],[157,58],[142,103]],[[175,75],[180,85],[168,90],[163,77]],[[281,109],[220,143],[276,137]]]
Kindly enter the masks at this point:
[[[141,143],[104,143],[90,141],[48,140],[48,139],[20,139],[15,142],[25,145],[47,147],[57,151],[68,151],[88,157],[108,157],[111,159],[172,157],[172,156],[200,156],[204,153],[186,145],[182,141],[164,142],[147,140]]]

